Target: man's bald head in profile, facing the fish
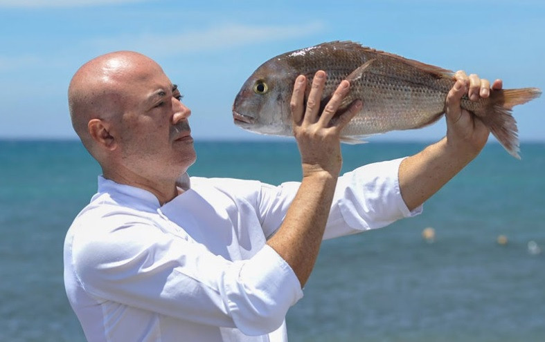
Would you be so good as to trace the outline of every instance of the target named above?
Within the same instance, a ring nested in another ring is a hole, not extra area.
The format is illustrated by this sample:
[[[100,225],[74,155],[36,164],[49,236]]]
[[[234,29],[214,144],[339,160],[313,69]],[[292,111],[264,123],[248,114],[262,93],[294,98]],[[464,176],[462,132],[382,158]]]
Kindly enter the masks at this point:
[[[152,59],[120,51],[84,64],[73,76],[73,127],[109,180],[172,198],[196,154],[189,108]]]

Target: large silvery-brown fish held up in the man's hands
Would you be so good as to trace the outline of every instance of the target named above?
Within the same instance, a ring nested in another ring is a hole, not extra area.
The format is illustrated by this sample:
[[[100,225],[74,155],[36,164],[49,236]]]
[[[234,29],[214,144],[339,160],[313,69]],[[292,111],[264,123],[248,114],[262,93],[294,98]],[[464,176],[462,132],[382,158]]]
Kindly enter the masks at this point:
[[[343,79],[350,82],[350,92],[338,113],[357,99],[364,103],[341,131],[341,141],[350,144],[365,142],[370,135],[433,124],[445,114],[445,99],[456,83],[452,70],[353,41],[330,41],[283,53],[259,66],[235,97],[235,125],[253,133],[293,135],[289,102],[295,79],[307,77],[306,98],[318,70],[328,75],[321,108]],[[539,88],[492,89],[490,97],[475,102],[464,95],[461,107],[479,117],[506,151],[520,159],[512,108],[541,93]]]

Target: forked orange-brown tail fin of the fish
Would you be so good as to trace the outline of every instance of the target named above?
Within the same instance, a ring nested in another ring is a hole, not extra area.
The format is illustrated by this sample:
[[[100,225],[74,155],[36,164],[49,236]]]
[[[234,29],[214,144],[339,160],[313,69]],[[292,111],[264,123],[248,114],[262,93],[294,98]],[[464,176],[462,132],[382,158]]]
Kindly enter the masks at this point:
[[[542,95],[538,88],[520,88],[492,91],[486,113],[476,113],[490,132],[513,157],[520,159],[519,130],[512,117],[512,108]],[[481,114],[481,115],[479,115]]]

